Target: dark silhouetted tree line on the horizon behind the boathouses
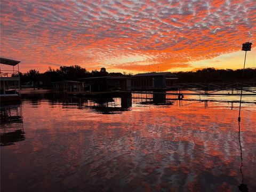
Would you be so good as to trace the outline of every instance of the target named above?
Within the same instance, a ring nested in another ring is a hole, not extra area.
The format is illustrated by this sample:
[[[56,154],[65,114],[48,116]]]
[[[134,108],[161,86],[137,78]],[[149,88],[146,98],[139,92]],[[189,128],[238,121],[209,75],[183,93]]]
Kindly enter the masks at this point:
[[[243,70],[237,69],[214,69],[204,68],[197,71],[180,71],[173,73],[178,77],[179,83],[193,82],[237,82],[241,81]],[[35,87],[51,87],[52,82],[58,81],[78,81],[79,78],[102,77],[102,76],[132,76],[133,74],[109,73],[106,68],[87,71],[78,65],[61,66],[59,69],[49,67],[44,73],[39,73],[36,69],[30,69],[27,73],[20,73],[21,85]],[[256,81],[256,69],[247,68],[244,71],[245,81]]]

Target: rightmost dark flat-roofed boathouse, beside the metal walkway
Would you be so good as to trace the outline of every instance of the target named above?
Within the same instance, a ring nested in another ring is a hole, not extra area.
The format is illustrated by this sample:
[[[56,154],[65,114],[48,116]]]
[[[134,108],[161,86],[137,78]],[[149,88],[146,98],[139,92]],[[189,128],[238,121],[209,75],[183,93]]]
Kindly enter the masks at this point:
[[[177,83],[177,77],[171,72],[141,73],[132,76],[133,90],[166,89]]]

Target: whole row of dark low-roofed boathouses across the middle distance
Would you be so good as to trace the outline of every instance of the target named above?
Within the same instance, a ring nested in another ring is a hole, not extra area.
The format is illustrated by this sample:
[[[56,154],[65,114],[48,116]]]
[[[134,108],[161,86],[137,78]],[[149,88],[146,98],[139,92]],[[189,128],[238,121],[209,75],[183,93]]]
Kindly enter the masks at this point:
[[[53,89],[62,92],[109,92],[131,90],[163,90],[177,83],[170,72],[143,73],[132,77],[103,76],[80,78],[77,81],[53,82]]]

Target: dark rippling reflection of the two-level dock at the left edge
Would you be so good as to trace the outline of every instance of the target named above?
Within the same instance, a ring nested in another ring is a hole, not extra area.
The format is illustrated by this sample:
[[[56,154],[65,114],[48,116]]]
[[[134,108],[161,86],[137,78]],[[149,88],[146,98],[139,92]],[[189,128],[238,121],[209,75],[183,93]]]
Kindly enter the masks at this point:
[[[1,146],[25,140],[21,105],[1,107]]]

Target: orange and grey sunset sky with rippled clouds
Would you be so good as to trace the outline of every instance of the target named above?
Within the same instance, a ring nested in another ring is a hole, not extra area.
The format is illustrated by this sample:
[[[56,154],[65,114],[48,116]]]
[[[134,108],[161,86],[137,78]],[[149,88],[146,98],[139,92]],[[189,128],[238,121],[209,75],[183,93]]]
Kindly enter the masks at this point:
[[[256,67],[255,1],[3,1],[1,57],[20,69]]]

